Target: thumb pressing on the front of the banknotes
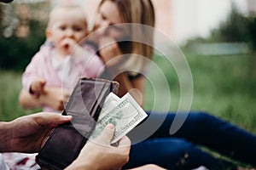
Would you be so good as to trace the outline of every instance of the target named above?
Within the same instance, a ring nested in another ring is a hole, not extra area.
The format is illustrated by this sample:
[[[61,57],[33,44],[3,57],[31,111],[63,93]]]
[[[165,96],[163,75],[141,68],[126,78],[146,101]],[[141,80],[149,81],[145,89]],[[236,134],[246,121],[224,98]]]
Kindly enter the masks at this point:
[[[96,142],[100,144],[110,144],[111,140],[113,139],[113,133],[114,133],[114,126],[113,124],[108,124],[104,129],[102,130],[102,133],[96,137]]]

